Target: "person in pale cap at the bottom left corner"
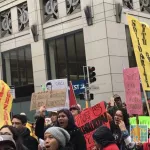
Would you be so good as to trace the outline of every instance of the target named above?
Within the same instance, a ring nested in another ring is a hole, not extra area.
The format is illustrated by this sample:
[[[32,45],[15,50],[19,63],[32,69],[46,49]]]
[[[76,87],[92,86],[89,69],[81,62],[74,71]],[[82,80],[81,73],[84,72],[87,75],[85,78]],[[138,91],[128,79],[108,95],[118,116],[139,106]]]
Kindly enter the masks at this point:
[[[11,135],[0,135],[0,150],[17,150]]]

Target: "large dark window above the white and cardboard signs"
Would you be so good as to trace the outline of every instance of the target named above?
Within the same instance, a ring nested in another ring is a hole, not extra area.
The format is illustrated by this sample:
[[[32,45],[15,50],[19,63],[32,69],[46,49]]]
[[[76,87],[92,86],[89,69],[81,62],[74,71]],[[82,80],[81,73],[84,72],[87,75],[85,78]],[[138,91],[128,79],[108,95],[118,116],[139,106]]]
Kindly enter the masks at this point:
[[[49,79],[83,79],[83,66],[86,65],[83,32],[56,38],[47,43]]]

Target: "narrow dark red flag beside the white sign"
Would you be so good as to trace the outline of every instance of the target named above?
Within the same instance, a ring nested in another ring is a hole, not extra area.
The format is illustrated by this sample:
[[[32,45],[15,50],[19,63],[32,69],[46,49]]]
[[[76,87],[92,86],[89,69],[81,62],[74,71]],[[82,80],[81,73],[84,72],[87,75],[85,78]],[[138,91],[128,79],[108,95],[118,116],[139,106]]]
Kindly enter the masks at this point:
[[[69,94],[70,107],[77,105],[76,96],[74,94],[72,82],[70,81],[70,94]]]

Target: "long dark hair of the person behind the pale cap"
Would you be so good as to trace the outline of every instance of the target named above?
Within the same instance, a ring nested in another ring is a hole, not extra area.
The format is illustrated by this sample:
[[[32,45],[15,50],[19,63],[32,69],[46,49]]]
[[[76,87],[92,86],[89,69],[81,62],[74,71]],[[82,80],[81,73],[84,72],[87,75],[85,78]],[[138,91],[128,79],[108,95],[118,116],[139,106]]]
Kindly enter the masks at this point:
[[[16,150],[24,150],[24,146],[23,146],[23,141],[19,135],[19,132],[16,128],[14,128],[13,126],[9,126],[9,125],[5,125],[3,126],[0,130],[4,129],[4,128],[8,128],[11,133],[13,134],[13,139],[16,142]]]

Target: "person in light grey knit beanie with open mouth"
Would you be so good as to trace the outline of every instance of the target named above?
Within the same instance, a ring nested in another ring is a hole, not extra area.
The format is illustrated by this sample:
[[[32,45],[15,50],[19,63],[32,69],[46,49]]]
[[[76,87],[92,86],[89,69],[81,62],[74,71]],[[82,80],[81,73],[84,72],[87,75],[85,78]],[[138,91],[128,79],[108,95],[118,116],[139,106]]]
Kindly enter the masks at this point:
[[[48,128],[44,134],[46,150],[64,150],[69,140],[69,133],[60,127]]]

